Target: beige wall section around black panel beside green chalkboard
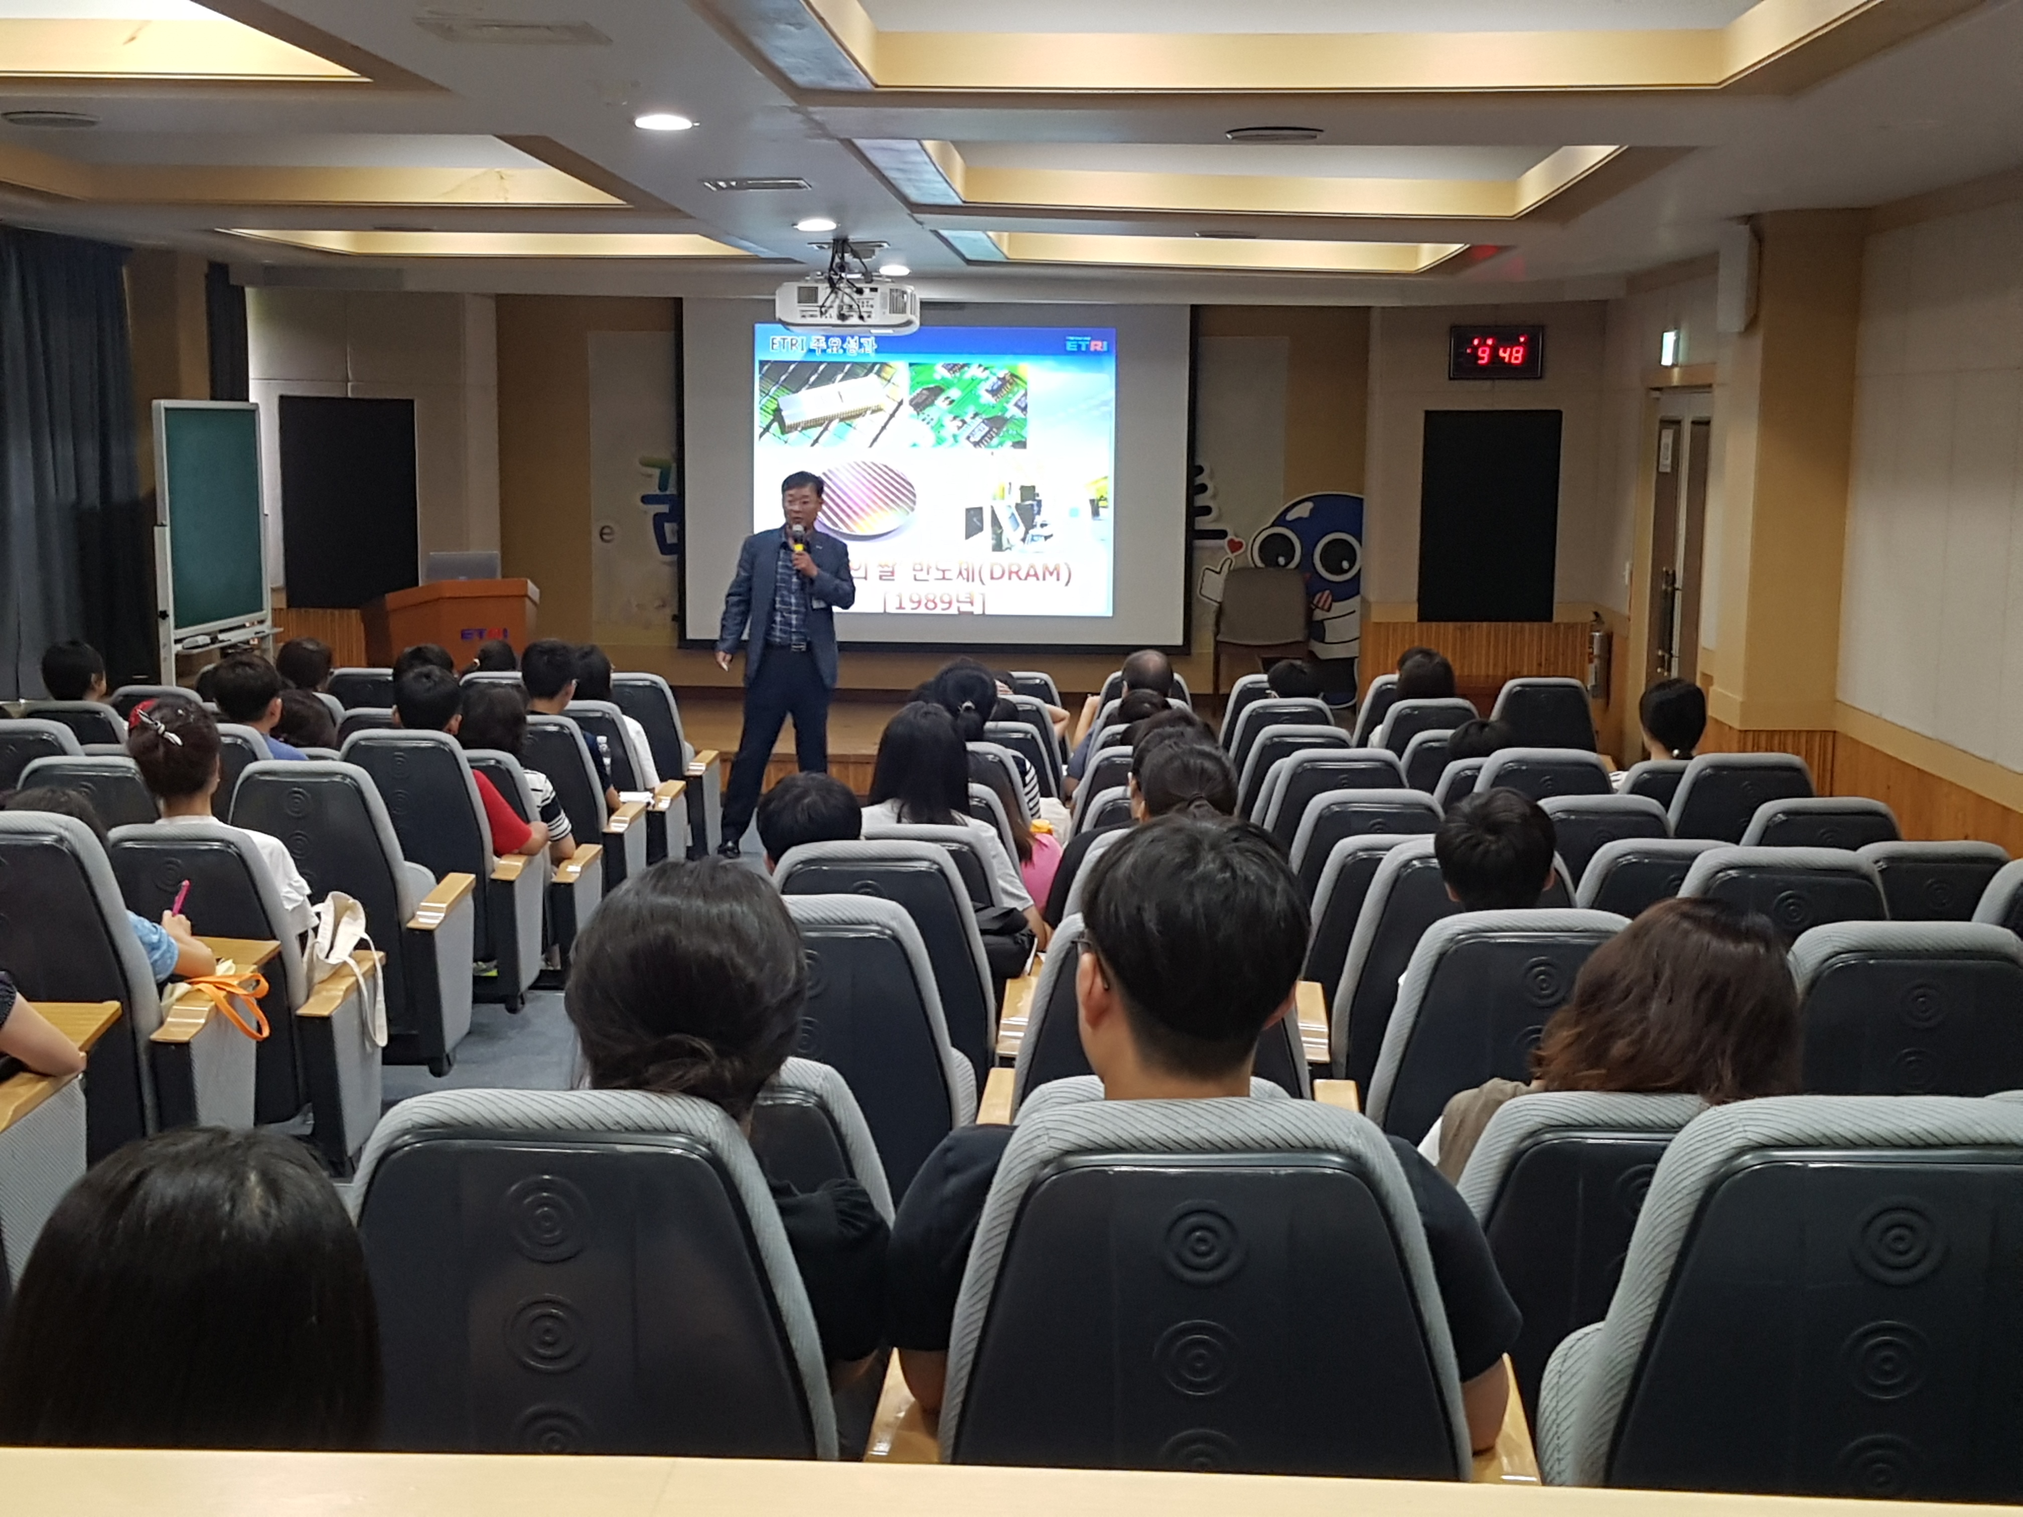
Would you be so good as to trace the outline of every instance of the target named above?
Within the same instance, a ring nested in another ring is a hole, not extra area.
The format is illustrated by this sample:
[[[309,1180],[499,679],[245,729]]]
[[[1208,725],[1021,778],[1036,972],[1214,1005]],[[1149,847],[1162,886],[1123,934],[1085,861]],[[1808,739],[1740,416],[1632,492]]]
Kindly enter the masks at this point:
[[[253,287],[247,346],[267,500],[281,512],[279,396],[413,400],[421,562],[429,552],[500,546],[492,295]],[[271,532],[281,574],[279,514]]]

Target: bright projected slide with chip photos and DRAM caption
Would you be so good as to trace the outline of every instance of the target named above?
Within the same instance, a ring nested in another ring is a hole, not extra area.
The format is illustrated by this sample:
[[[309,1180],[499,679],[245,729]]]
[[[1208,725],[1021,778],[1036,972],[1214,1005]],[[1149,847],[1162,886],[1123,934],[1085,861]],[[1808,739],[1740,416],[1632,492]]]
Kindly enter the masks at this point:
[[[753,524],[821,475],[858,576],[840,615],[1111,615],[1113,330],[753,336]]]

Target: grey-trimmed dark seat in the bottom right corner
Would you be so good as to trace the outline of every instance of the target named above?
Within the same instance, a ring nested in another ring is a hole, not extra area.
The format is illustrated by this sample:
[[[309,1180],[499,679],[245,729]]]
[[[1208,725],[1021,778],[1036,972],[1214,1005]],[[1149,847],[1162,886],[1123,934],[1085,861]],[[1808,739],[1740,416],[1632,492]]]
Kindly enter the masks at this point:
[[[1546,1369],[1546,1479],[2015,1503],[2019,1236],[2015,1102],[1776,1096],[1695,1117],[1608,1315]]]

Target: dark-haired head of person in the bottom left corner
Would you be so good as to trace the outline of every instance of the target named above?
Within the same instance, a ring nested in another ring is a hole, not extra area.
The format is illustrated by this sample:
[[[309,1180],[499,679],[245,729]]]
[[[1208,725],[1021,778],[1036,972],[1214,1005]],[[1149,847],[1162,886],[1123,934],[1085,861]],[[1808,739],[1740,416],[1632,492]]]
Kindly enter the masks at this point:
[[[263,1131],[93,1165],[0,1337],[0,1444],[362,1450],[380,1398],[358,1230],[307,1147]]]

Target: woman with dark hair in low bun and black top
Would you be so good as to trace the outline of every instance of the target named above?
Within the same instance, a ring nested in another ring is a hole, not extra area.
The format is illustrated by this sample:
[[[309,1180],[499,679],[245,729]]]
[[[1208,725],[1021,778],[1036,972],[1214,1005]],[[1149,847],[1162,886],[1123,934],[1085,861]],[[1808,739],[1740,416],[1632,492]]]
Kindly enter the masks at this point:
[[[805,1003],[799,928],[767,878],[730,860],[668,860],[615,890],[577,936],[564,993],[591,1088],[698,1096],[746,1133]],[[767,1183],[831,1379],[858,1371],[884,1345],[884,1218],[854,1179]]]

